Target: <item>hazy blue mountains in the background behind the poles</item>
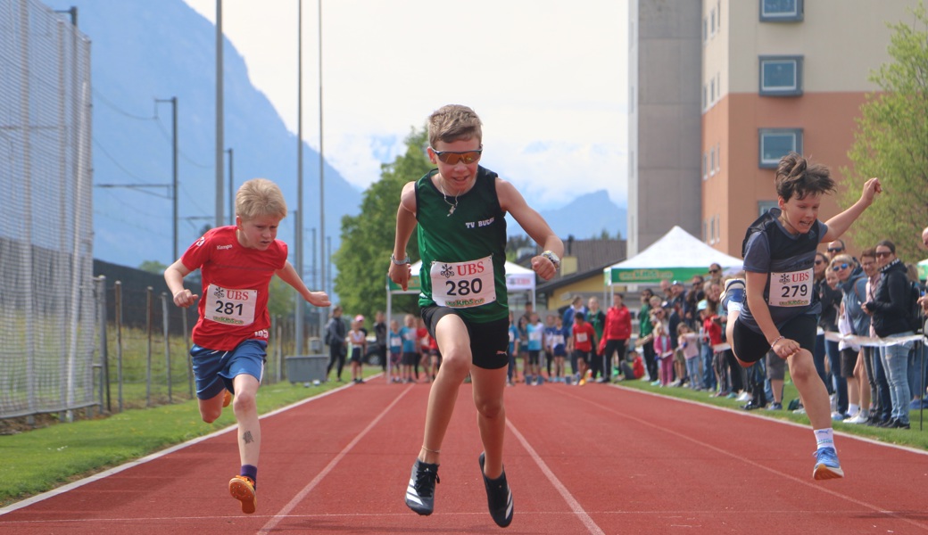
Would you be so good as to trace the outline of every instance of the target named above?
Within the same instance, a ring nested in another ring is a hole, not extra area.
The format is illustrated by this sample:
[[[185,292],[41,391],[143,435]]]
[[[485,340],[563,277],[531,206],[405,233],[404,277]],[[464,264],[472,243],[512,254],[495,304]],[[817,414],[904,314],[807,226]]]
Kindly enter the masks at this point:
[[[94,256],[127,266],[174,261],[172,99],[176,98],[177,249],[215,222],[215,28],[182,0],[45,0],[78,9],[91,41],[94,155]],[[224,211],[233,187],[251,177],[277,182],[297,208],[297,138],[252,84],[243,57],[224,46]],[[306,262],[319,223],[319,155],[303,143]],[[356,214],[361,193],[325,167],[325,227],[338,248],[342,216]],[[542,215],[560,236],[625,236],[625,208],[605,191],[577,197]],[[292,243],[293,218],[278,237]],[[512,225],[513,234],[521,234]],[[316,242],[318,243],[318,242]],[[316,245],[316,249],[318,246]]]

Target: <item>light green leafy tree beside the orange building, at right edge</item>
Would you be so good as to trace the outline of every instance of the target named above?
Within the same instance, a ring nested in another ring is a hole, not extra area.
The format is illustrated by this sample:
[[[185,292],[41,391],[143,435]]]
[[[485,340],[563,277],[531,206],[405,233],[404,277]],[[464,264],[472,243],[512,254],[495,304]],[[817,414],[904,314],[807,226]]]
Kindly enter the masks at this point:
[[[840,198],[849,206],[871,176],[883,195],[853,227],[854,242],[871,247],[881,239],[896,244],[903,261],[918,261],[918,234],[928,214],[928,17],[922,2],[912,9],[913,25],[892,24],[890,62],[870,74],[881,91],[867,96],[857,118],[853,162],[843,169],[848,187]]]

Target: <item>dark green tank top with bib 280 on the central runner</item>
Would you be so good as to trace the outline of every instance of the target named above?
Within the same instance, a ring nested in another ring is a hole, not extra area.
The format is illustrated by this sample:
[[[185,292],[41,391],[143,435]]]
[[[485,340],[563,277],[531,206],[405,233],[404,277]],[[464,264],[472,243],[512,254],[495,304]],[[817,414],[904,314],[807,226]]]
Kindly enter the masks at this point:
[[[496,173],[478,167],[476,183],[455,206],[454,197],[432,184],[437,172],[416,182],[419,306],[451,307],[474,323],[505,319],[506,214],[496,197]]]

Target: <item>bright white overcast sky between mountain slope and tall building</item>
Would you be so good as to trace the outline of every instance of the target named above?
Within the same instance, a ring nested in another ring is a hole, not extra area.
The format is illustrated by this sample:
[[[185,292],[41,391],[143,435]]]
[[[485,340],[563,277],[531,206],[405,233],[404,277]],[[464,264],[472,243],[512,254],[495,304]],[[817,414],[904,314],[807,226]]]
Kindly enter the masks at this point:
[[[215,20],[215,0],[185,0]],[[445,104],[538,209],[627,190],[627,2],[322,0],[323,153],[358,189]],[[251,82],[297,130],[297,1],[225,0]],[[318,4],[303,1],[303,138],[319,147]],[[418,177],[410,177],[410,180]]]

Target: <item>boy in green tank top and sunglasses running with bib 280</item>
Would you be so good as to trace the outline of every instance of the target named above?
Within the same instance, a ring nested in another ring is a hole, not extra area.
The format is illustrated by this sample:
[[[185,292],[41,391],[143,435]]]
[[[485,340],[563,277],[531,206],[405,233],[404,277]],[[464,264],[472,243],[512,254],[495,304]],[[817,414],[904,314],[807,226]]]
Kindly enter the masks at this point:
[[[458,389],[470,374],[487,504],[490,516],[505,528],[513,512],[502,459],[509,365],[506,214],[544,249],[532,259],[541,278],[557,273],[563,244],[513,185],[478,165],[482,138],[480,119],[470,108],[445,106],[429,117],[428,155],[437,168],[403,188],[390,278],[406,289],[406,243],[418,224],[419,306],[443,361],[429,392],[422,448],[406,488],[406,505],[419,515],[432,514],[442,442]]]

